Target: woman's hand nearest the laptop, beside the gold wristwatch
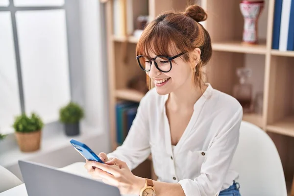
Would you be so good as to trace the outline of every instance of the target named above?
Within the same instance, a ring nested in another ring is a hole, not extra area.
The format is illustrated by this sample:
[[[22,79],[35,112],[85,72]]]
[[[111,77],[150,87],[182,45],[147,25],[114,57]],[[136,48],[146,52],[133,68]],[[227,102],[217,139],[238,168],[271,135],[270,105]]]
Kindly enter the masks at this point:
[[[102,179],[106,184],[116,186],[121,194],[140,194],[140,190],[145,185],[145,179],[135,176],[126,163],[114,158],[105,164],[96,161],[87,162],[89,167],[96,169],[90,170],[90,174],[95,178]],[[111,173],[111,174],[110,174]]]

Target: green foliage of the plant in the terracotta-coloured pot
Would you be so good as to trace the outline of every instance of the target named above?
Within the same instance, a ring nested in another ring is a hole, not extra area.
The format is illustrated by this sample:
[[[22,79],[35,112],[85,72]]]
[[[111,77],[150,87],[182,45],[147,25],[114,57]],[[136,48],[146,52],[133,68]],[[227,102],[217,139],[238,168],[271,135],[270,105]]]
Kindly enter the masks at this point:
[[[22,114],[15,118],[13,128],[16,132],[29,133],[39,131],[43,128],[44,123],[41,118],[35,113],[31,114],[31,117]]]

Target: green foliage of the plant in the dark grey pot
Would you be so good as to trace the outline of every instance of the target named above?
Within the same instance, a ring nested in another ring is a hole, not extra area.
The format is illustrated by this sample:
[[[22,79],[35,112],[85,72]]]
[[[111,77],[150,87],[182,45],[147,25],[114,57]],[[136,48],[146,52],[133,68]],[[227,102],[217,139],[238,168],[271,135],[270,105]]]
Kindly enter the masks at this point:
[[[78,123],[83,117],[83,109],[72,101],[59,110],[59,121],[62,123]]]

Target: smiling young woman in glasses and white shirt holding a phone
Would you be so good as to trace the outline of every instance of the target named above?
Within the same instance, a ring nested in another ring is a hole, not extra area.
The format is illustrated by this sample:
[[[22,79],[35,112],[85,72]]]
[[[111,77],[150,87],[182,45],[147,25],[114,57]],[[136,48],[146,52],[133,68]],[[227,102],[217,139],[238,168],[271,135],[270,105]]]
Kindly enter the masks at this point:
[[[209,33],[199,24],[206,18],[192,5],[147,25],[136,53],[155,88],[141,100],[123,145],[99,154],[106,164],[87,161],[94,178],[138,196],[240,196],[230,164],[243,110],[204,82],[203,66],[212,55]],[[131,172],[150,153],[156,181]]]

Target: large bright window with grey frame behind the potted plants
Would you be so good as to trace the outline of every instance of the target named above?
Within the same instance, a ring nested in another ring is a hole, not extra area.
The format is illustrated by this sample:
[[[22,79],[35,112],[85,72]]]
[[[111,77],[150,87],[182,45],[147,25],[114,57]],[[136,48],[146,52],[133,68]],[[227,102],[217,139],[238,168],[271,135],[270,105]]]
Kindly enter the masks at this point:
[[[0,133],[21,113],[58,120],[71,99],[64,0],[0,0],[0,29]]]

